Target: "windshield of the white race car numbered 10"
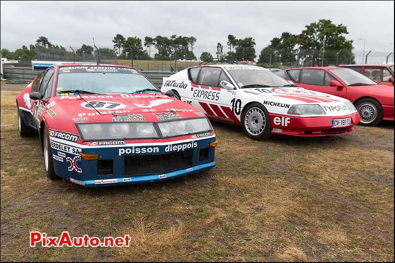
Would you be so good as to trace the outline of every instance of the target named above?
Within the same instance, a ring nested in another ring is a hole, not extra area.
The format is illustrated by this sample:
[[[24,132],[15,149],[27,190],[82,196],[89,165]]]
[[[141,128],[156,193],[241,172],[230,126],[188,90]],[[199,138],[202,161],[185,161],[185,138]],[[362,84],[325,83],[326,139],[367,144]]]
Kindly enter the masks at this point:
[[[261,67],[225,67],[228,73],[241,88],[249,85],[267,85],[271,87],[283,87],[290,83],[280,76]]]

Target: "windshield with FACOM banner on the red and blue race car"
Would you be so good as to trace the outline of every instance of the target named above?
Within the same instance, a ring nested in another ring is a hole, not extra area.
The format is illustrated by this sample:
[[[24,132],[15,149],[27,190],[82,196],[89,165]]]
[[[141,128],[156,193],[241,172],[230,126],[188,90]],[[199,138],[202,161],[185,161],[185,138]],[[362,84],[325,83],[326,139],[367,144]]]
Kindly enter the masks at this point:
[[[147,78],[134,69],[104,66],[73,66],[59,68],[56,94],[66,91],[96,94],[127,94],[147,88],[158,90]]]

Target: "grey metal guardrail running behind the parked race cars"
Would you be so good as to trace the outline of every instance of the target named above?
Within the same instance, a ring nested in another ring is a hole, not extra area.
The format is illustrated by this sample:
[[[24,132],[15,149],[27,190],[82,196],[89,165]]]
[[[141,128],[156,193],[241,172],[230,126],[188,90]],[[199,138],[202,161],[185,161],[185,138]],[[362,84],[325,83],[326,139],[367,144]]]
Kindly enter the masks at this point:
[[[31,81],[43,71],[43,69],[35,69],[35,71],[33,71],[32,68],[28,67],[3,67],[3,77],[7,80]],[[141,73],[157,87],[160,87],[163,83],[163,77],[169,77],[175,72],[142,71]]]

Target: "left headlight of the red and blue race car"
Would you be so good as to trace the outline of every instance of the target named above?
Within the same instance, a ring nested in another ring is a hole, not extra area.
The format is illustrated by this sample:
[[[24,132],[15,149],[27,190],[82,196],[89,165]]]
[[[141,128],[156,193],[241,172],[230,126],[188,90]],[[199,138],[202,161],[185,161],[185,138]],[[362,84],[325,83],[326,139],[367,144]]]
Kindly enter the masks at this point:
[[[152,122],[77,124],[82,141],[159,138]]]

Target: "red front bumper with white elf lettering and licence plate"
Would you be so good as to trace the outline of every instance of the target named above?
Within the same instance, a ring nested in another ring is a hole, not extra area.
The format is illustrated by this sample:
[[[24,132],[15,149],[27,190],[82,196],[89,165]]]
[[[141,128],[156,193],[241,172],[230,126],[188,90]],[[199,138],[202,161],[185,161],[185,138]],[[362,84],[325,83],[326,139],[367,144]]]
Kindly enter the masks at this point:
[[[359,113],[352,113],[344,116],[324,117],[298,117],[269,113],[269,116],[271,120],[272,133],[298,137],[317,137],[351,133],[355,130],[353,126],[358,124],[360,121]],[[287,121],[281,121],[280,125],[277,125],[274,122],[274,118],[276,117],[280,120],[288,119]],[[351,125],[332,128],[332,119],[343,119],[348,117],[351,117]]]

